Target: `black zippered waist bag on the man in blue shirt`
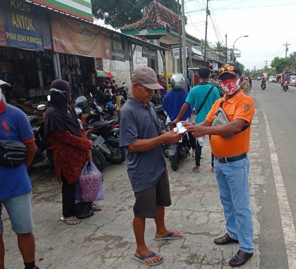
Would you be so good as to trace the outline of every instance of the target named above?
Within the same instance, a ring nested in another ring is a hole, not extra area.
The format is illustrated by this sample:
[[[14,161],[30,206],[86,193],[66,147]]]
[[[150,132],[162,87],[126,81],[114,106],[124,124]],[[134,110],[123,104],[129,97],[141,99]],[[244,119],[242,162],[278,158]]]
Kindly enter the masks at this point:
[[[0,165],[15,168],[21,166],[26,157],[26,145],[19,141],[0,140]]]

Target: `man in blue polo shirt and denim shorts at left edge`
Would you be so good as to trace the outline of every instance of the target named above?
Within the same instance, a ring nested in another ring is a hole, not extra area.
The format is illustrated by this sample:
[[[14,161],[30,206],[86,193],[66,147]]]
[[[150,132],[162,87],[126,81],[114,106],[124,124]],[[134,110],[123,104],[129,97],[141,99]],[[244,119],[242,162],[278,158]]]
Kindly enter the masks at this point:
[[[0,80],[1,85],[10,86]],[[12,230],[16,233],[25,269],[38,269],[35,266],[35,239],[32,233],[32,184],[27,173],[27,167],[37,150],[34,133],[26,114],[5,104],[3,100],[0,101],[0,140],[21,141],[27,148],[25,162],[21,166],[10,168],[0,164],[0,269],[4,268],[2,204],[9,215]]]

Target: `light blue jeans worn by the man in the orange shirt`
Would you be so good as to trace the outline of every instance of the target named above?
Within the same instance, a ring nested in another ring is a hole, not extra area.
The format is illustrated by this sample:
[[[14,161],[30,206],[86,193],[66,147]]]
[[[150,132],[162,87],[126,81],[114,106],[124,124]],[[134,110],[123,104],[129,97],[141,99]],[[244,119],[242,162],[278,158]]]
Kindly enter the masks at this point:
[[[214,167],[228,234],[239,241],[242,251],[252,253],[254,247],[248,182],[249,157],[231,163],[219,163],[215,159]]]

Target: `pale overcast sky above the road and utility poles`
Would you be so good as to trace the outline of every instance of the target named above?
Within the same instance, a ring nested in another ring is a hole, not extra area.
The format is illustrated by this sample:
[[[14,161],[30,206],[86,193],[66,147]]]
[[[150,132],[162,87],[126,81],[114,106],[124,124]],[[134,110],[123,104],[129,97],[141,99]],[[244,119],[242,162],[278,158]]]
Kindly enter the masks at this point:
[[[185,13],[189,12],[186,31],[200,39],[205,37],[205,5],[206,0],[185,0]],[[204,11],[200,11],[202,8]],[[237,60],[246,68],[252,70],[256,65],[256,69],[261,69],[265,60],[270,64],[275,56],[285,57],[283,44],[287,41],[291,44],[288,55],[296,51],[295,0],[210,0],[209,10],[207,39],[210,42],[217,41],[211,19],[217,25],[218,39],[223,40],[223,45],[226,33],[227,46],[233,45],[238,37],[249,35],[235,43],[242,56]]]

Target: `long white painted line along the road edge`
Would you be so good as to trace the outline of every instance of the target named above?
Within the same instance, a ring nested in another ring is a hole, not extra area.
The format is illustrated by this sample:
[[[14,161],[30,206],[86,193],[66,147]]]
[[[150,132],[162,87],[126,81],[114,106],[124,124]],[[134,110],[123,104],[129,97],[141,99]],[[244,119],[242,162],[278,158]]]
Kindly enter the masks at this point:
[[[280,217],[282,220],[282,229],[286,245],[286,252],[288,258],[289,269],[296,269],[296,230],[293,222],[291,209],[287,197],[286,188],[284,185],[283,177],[280,172],[280,165],[278,156],[275,153],[275,145],[273,143],[269,123],[265,111],[263,110],[265,130],[270,150],[270,159],[272,165],[273,176],[275,179],[276,194],[278,197],[280,207]]]

